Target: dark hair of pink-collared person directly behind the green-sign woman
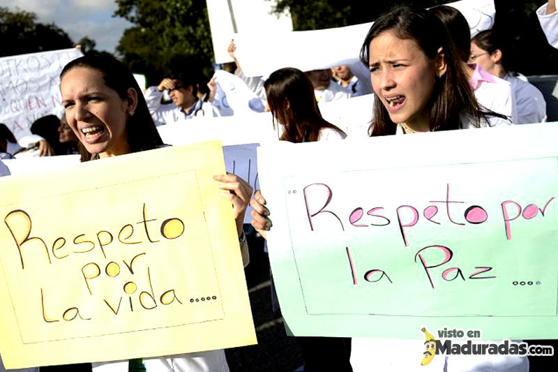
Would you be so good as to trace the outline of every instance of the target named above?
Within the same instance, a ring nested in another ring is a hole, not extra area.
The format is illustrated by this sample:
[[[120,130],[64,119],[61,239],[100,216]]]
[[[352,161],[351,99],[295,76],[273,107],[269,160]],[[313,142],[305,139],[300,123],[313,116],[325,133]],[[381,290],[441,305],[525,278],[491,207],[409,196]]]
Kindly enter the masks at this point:
[[[430,8],[430,11],[446,27],[461,60],[464,62],[469,61],[469,54],[471,54],[471,30],[465,16],[459,10],[453,8],[453,6],[435,6]]]

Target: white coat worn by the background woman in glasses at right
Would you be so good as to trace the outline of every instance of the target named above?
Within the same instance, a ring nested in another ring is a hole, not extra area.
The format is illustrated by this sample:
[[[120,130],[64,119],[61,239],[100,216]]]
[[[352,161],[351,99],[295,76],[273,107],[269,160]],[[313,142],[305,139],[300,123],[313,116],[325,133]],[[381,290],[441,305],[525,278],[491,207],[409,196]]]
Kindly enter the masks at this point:
[[[523,77],[523,78],[522,78]],[[507,73],[504,80],[511,84],[515,103],[518,111],[518,119],[514,124],[533,124],[546,121],[546,102],[541,91],[524,80],[525,76],[513,76]]]

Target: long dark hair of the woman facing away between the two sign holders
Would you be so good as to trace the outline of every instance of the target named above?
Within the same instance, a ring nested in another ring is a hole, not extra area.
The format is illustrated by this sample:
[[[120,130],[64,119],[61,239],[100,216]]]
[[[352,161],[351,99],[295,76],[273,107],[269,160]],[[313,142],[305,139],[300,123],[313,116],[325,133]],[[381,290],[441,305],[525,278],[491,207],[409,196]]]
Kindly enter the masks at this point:
[[[276,70],[269,75],[264,87],[273,114],[273,126],[279,121],[285,127],[280,140],[314,142],[322,128],[331,128],[345,135],[322,117],[312,82],[301,70],[290,67]]]

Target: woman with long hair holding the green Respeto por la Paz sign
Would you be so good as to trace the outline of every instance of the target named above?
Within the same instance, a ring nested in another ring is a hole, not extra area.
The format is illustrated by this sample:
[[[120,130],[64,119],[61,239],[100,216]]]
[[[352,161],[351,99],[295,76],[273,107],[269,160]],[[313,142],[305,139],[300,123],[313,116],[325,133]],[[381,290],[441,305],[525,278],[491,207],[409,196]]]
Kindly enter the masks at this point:
[[[399,6],[380,15],[365,37],[361,61],[375,92],[372,137],[508,124],[478,105],[444,24],[428,10]],[[264,236],[272,225],[265,204],[259,191],[250,201],[252,226]],[[414,350],[408,346],[400,340],[354,339],[352,366],[355,371],[420,369],[420,355],[407,358],[405,349]],[[434,358],[434,364],[442,371],[444,357]]]

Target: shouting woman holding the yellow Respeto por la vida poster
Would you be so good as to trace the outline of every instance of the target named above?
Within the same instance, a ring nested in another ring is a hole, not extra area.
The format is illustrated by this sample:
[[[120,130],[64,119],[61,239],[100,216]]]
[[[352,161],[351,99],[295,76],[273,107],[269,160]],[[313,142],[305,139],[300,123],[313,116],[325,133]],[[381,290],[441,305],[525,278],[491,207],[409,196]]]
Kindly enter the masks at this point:
[[[107,55],[71,61],[61,73],[60,90],[68,125],[80,140],[82,161],[156,149],[163,143],[133,75]],[[91,92],[96,92],[91,99]],[[213,177],[223,198],[232,202],[243,262],[248,246],[242,223],[252,188],[232,174]],[[229,192],[227,192],[229,191]],[[218,335],[216,335],[218,336]],[[93,364],[94,371],[229,371],[223,350],[196,352],[134,361]]]

